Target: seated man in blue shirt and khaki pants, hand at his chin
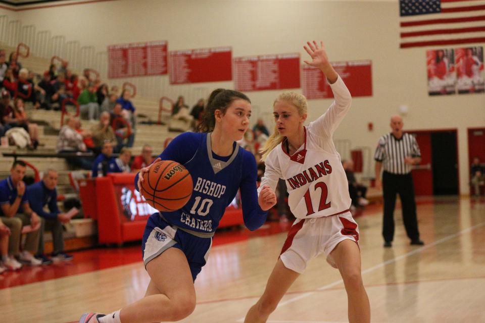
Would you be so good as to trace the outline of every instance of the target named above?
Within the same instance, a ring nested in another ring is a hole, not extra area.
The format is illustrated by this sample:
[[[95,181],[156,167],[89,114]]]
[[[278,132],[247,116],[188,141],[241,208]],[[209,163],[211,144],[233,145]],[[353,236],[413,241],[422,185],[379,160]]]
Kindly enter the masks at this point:
[[[39,244],[40,219],[29,205],[25,191],[26,164],[22,160],[14,161],[10,176],[0,181],[0,219],[10,229],[9,253],[29,265],[40,265],[42,262],[33,255]],[[22,208],[23,213],[19,210]],[[28,227],[23,251],[20,252],[21,232]]]

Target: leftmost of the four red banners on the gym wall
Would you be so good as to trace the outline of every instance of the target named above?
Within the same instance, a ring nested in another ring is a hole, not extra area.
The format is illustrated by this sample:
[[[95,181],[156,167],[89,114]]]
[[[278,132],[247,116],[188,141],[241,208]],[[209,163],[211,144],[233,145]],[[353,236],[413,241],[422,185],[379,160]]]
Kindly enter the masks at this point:
[[[167,41],[108,46],[108,78],[167,74]]]

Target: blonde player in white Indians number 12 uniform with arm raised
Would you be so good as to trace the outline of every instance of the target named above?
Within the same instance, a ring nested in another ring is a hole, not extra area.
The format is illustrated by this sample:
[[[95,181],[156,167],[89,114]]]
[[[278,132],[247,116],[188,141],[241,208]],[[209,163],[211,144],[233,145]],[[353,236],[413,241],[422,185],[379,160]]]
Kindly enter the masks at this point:
[[[304,46],[333,91],[335,101],[307,127],[306,98],[280,94],[273,103],[274,133],[262,148],[266,170],[261,186],[275,189],[278,179],[288,188],[288,204],[297,218],[288,232],[266,289],[245,322],[266,322],[288,288],[305,271],[307,262],[325,253],[337,268],[348,296],[349,322],[370,322],[370,305],[362,283],[359,231],[349,211],[351,199],[333,132],[349,111],[352,97],[328,61],[323,42]]]

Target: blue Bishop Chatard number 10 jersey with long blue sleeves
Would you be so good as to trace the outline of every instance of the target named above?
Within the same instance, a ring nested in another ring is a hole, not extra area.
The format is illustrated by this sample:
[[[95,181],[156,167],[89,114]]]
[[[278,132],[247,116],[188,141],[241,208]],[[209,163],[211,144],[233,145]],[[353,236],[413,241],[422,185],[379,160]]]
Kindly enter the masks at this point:
[[[254,156],[235,142],[230,156],[217,156],[212,152],[210,138],[207,133],[183,133],[160,154],[162,160],[183,165],[193,181],[192,196],[185,206],[173,212],[161,212],[162,217],[185,230],[214,233],[226,207],[240,189],[245,225],[250,230],[259,228],[266,221],[267,211],[261,210],[258,204]]]

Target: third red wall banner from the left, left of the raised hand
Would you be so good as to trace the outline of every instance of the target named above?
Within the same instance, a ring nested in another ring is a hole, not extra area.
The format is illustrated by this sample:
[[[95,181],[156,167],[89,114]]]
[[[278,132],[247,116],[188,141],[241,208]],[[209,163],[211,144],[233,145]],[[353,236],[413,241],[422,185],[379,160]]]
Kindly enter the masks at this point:
[[[234,86],[238,91],[299,88],[300,54],[234,58]]]

